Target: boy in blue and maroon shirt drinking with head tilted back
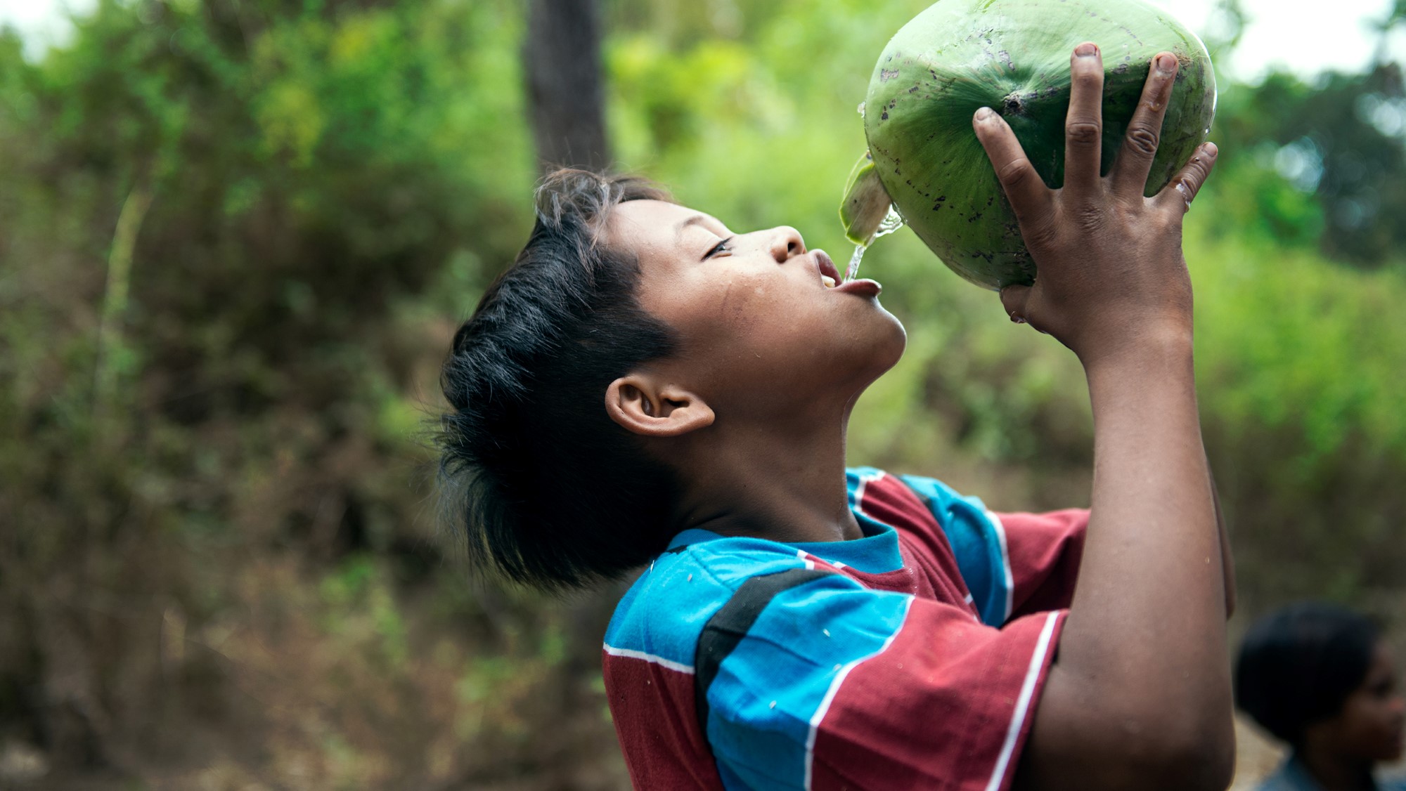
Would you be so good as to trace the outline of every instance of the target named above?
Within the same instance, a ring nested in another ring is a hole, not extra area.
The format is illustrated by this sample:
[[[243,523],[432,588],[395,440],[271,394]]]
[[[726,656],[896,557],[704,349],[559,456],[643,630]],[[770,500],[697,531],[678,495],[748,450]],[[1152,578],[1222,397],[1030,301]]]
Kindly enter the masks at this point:
[[[603,659],[638,788],[1229,783],[1229,586],[1180,244],[1215,146],[1142,194],[1175,70],[1154,60],[1099,177],[1102,60],[1074,51],[1062,190],[998,115],[973,119],[1040,271],[1007,313],[1088,375],[1088,514],[998,517],[846,472],[851,407],[904,347],[879,284],[839,284],[790,228],[548,178],[454,339],[443,469],[472,556],[515,580],[648,565]]]

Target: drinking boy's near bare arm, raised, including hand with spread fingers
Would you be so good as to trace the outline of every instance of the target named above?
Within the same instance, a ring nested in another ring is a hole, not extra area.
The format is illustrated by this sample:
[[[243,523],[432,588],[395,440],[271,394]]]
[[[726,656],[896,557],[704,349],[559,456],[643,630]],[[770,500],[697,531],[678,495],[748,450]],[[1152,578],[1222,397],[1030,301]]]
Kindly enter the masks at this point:
[[[1022,753],[1022,788],[1225,788],[1234,759],[1222,544],[1192,374],[1182,215],[1205,145],[1143,185],[1177,72],[1153,60],[1116,164],[1099,176],[1104,69],[1071,59],[1064,185],[1049,190],[990,110],[974,126],[1036,263],[1001,301],[1069,346],[1094,409],[1092,513],[1078,586]]]

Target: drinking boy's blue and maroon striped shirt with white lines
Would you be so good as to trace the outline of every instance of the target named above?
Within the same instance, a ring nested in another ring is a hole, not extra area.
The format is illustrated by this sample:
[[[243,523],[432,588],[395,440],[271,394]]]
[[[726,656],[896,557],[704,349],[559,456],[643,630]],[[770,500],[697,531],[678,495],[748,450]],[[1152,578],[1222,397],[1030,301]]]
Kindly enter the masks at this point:
[[[636,788],[1010,787],[1088,513],[848,485],[862,538],[689,530],[621,599],[605,683]]]

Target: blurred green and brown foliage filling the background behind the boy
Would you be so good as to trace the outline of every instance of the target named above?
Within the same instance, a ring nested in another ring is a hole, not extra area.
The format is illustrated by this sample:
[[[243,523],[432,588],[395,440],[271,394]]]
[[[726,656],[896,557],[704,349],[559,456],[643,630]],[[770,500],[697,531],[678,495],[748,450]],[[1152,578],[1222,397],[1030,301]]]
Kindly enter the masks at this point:
[[[607,1],[620,167],[844,259],[855,107],[924,6]],[[465,579],[422,441],[530,228],[523,27],[510,0],[103,0],[38,60],[0,35],[0,742],[28,760],[0,780],[621,785],[612,591]],[[1251,614],[1392,617],[1406,583],[1400,83],[1222,96],[1187,257]],[[907,232],[865,268],[910,347],[851,459],[1085,504],[1073,355]]]

